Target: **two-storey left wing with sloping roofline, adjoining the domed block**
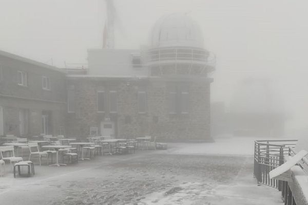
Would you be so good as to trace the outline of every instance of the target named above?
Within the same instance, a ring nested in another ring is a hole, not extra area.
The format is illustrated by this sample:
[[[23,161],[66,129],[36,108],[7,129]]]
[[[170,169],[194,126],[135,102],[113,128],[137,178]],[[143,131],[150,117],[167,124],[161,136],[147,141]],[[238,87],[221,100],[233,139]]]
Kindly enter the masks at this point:
[[[0,51],[0,136],[64,133],[66,73]]]

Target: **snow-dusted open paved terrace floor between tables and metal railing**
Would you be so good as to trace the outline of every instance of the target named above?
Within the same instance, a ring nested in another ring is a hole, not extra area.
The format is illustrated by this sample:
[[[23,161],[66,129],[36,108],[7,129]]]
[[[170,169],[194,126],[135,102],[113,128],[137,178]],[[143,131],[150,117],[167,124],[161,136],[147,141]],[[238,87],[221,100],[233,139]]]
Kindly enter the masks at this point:
[[[257,186],[253,178],[253,140],[242,139],[228,154],[223,148],[235,146],[233,141],[169,144],[166,151],[102,156],[67,167],[36,166],[29,178],[6,174],[0,178],[0,204],[282,205],[277,190]]]

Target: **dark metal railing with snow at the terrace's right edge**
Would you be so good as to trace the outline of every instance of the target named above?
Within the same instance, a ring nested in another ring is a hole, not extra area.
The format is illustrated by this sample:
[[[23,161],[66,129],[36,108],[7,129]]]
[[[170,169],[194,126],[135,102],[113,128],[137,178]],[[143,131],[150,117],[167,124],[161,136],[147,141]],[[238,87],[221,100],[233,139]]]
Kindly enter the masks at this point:
[[[308,205],[308,159],[302,157],[298,166],[294,166],[289,174],[278,179],[269,178],[269,172],[282,165],[290,157],[297,154],[297,140],[256,140],[254,157],[254,176],[258,183],[281,191],[285,205]]]

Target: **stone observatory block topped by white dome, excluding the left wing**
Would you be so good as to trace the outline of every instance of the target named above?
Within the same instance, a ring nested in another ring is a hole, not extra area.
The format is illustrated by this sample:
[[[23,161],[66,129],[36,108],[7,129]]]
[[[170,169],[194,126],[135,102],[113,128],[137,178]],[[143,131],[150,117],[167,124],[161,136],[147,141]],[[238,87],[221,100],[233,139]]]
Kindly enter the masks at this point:
[[[158,20],[141,50],[90,49],[87,74],[68,74],[68,135],[210,139],[215,58],[185,14]]]

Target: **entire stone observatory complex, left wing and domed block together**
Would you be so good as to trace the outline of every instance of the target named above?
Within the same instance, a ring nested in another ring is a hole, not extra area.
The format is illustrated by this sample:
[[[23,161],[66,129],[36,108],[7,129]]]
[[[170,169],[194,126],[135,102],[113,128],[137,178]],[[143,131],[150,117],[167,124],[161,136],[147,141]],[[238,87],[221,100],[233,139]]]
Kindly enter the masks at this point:
[[[147,48],[89,49],[88,69],[0,53],[0,135],[210,140],[215,57],[185,14],[158,20]]]

